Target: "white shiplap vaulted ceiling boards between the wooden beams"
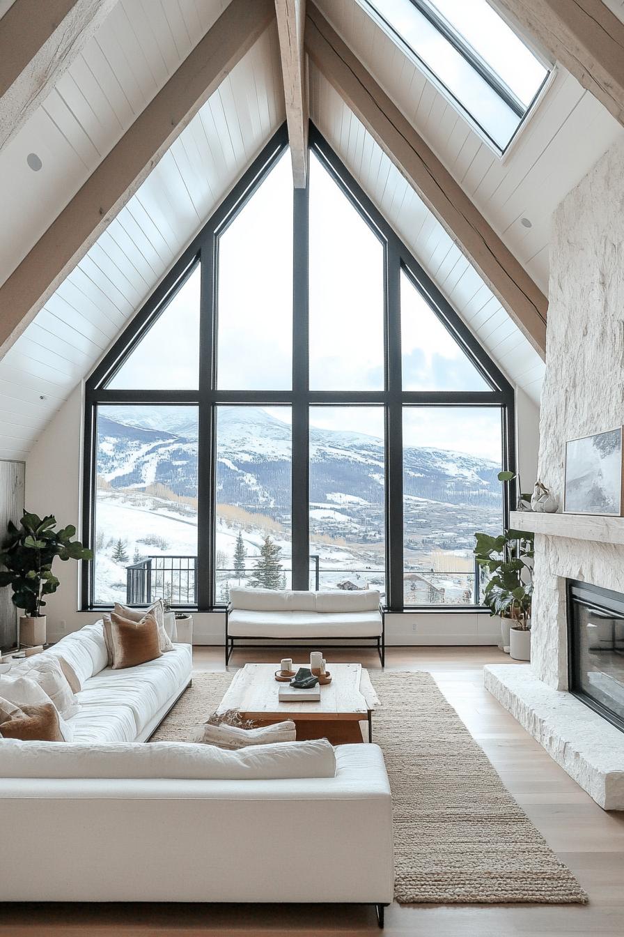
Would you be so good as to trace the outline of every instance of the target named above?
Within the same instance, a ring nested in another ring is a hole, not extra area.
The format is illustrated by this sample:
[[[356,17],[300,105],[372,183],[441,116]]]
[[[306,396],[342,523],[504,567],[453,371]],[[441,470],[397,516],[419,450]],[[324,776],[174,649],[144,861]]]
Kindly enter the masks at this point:
[[[317,3],[547,291],[552,212],[622,128],[560,69],[501,161],[356,0]],[[0,282],[226,6],[227,0],[119,0],[0,155],[0,201],[11,219],[0,238]],[[310,84],[312,118],[347,168],[486,350],[539,401],[544,364],[460,245],[314,68]],[[0,458],[25,457],[283,119],[272,26],[0,361]],[[26,167],[31,152],[41,156],[39,172]],[[533,222],[530,230],[519,224],[523,216]]]

